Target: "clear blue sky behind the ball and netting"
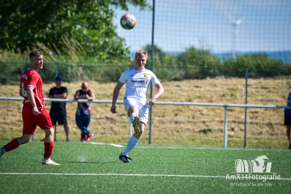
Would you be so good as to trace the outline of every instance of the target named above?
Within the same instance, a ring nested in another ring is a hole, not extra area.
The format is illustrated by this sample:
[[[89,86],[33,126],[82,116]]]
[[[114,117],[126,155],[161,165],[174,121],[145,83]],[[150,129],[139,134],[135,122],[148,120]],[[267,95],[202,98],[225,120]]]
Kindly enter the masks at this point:
[[[132,30],[120,26],[125,13],[137,19]],[[117,33],[132,52],[151,44],[152,15],[134,6],[116,10]],[[236,44],[229,16],[244,18],[237,25]],[[213,52],[290,51],[291,0],[155,0],[154,44],[168,52],[190,46]]]

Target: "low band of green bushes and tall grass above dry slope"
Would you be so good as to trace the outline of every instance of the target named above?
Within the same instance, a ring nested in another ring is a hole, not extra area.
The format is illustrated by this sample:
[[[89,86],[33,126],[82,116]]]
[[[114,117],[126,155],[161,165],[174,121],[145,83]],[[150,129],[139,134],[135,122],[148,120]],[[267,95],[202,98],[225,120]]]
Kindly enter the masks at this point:
[[[64,81],[118,81],[124,69],[135,66],[135,62],[129,60],[104,63],[94,57],[81,56],[82,49],[76,42],[66,38],[63,41],[64,46],[68,48],[67,55],[61,55],[61,53],[45,55],[44,69],[39,71],[44,81],[53,81],[56,73],[61,75]],[[50,53],[50,49],[40,43],[38,45]],[[147,45],[144,49],[149,54],[146,68],[151,69],[152,47]],[[28,53],[25,55],[28,56]],[[29,65],[25,55],[7,51],[0,53],[0,82],[2,84],[19,81],[20,74]],[[176,56],[154,46],[154,73],[163,80],[205,79],[217,76],[244,78],[246,68],[248,68],[249,78],[291,75],[291,65],[271,59],[266,54],[239,55],[236,59],[229,58],[221,62],[208,50],[191,47]]]

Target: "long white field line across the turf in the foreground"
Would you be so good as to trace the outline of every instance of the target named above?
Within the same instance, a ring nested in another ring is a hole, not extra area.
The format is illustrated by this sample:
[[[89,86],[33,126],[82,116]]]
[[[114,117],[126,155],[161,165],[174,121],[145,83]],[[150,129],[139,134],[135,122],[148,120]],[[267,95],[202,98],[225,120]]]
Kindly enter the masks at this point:
[[[94,174],[94,173],[0,173],[0,175],[81,175],[81,176],[133,176],[133,177],[192,177],[192,178],[225,178],[226,176],[206,175],[146,175],[146,174]],[[256,178],[259,180],[258,178]],[[271,178],[266,178],[270,179]],[[272,180],[291,180],[291,178],[278,178]]]

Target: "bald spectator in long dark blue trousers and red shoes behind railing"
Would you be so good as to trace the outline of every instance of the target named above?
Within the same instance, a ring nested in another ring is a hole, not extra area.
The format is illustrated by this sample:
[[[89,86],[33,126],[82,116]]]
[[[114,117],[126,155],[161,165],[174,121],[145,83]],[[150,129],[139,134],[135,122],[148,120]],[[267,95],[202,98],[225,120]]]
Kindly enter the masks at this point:
[[[83,82],[81,89],[77,90],[74,95],[75,100],[87,99],[94,100],[95,95],[92,90],[89,89],[87,82]],[[77,113],[76,113],[76,124],[79,129],[81,129],[81,142],[89,141],[94,135],[88,130],[88,126],[91,119],[91,106],[90,102],[78,103]]]

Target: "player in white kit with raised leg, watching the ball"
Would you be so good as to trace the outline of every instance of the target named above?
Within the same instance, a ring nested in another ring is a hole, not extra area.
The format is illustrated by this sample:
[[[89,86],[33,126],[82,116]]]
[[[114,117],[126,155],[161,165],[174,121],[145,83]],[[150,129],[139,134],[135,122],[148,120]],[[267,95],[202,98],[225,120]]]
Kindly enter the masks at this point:
[[[132,160],[128,153],[137,145],[141,134],[143,133],[148,121],[149,105],[154,106],[155,100],[164,93],[164,88],[154,73],[146,68],[148,53],[145,50],[136,52],[136,66],[126,69],[117,82],[112,99],[111,113],[116,112],[116,101],[120,93],[121,87],[126,83],[126,92],[123,98],[124,108],[127,112],[130,122],[133,123],[135,133],[129,138],[127,146],[120,154],[119,159],[122,162],[130,163]],[[154,97],[147,101],[147,90],[150,81],[157,89]]]

